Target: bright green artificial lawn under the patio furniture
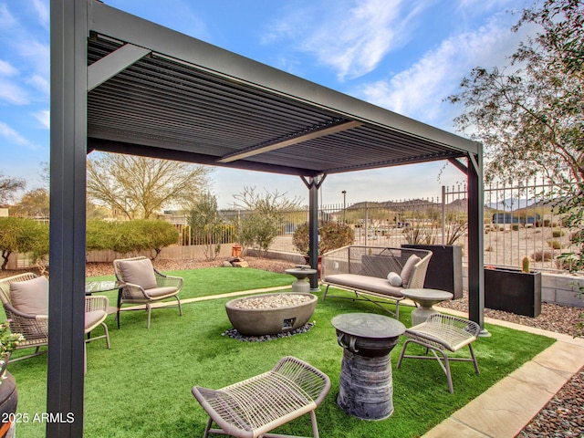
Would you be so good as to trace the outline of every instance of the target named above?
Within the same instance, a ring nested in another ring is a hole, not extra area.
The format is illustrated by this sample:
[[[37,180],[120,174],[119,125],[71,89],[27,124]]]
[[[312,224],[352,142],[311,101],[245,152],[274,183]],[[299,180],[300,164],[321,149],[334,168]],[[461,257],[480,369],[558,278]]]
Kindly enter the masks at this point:
[[[185,278],[185,289],[190,291],[185,290],[183,298],[198,294],[201,285],[206,285],[207,294],[217,295],[251,284],[271,287],[294,281],[291,276],[255,269],[210,268],[173,274]],[[329,298],[318,302],[311,318],[316,325],[308,333],[267,342],[242,342],[222,336],[231,328],[224,311],[227,300],[184,304],[183,317],[178,316],[177,308],[153,309],[150,329],[146,328],[145,312],[122,314],[120,329],[110,316],[111,349],[105,348],[103,340],[88,344],[84,436],[203,436],[207,417],[191,394],[193,385],[220,388],[270,370],[286,355],[307,360],[332,381],[327,399],[316,411],[320,436],[420,436],[554,341],[488,325],[492,337],[474,342],[481,374],[474,373],[472,363],[453,362],[454,394],[450,394],[446,377],[434,360],[404,360],[401,369],[395,370],[401,340],[391,360],[395,411],[387,420],[366,422],[341,411],[335,401],[342,349],[330,319],[347,312],[383,314],[380,308]],[[411,310],[401,307],[400,319],[406,327],[411,325]],[[467,351],[460,354],[467,355]],[[46,357],[11,363],[8,370],[18,385],[18,412],[27,413],[29,418],[45,412]],[[297,419],[278,431],[311,436],[309,418]],[[43,437],[45,424],[19,423],[16,432],[18,436]]]

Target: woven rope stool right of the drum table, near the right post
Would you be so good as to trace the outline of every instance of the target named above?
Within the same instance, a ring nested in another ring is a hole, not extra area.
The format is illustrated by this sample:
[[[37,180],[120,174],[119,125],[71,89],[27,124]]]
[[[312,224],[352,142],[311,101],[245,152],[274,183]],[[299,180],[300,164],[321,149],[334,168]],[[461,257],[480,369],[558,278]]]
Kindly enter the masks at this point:
[[[450,372],[450,360],[470,361],[474,363],[474,370],[479,373],[478,363],[474,356],[472,342],[478,337],[480,327],[473,321],[463,318],[456,318],[450,315],[434,314],[431,315],[425,322],[407,328],[404,336],[408,337],[403,343],[401,349],[400,359],[398,360],[396,368],[400,368],[401,360],[406,359],[430,359],[438,360],[441,368],[446,374],[448,380],[448,391],[452,394],[454,392],[453,379]],[[426,348],[426,354],[432,351],[432,356],[409,356],[405,355],[405,349],[409,343],[416,343]],[[448,352],[454,352],[468,346],[470,350],[470,358],[449,357]],[[438,355],[440,354],[440,356]]]

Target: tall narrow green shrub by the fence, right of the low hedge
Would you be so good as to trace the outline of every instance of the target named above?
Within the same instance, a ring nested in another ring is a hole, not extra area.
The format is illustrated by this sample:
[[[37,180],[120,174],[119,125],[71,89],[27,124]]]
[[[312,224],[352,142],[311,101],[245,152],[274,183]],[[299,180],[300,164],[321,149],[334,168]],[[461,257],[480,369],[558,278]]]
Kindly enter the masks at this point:
[[[220,233],[223,232],[217,198],[211,193],[204,193],[189,211],[188,223],[193,235],[203,238],[205,258],[214,260],[221,250]]]

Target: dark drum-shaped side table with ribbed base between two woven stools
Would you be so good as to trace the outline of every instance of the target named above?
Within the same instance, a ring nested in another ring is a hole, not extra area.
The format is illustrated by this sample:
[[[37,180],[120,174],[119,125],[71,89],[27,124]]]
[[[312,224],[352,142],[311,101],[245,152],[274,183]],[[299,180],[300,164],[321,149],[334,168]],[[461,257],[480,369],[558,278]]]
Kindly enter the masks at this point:
[[[343,348],[339,407],[362,420],[382,420],[393,413],[390,352],[405,327],[400,321],[370,313],[332,318]]]

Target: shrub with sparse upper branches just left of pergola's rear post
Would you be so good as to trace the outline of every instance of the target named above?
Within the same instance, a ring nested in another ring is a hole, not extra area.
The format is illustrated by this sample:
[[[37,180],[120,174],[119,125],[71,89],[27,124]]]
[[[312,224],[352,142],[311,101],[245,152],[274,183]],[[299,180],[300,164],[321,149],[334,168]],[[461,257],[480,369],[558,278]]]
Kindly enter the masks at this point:
[[[287,193],[278,191],[255,193],[255,187],[244,187],[235,194],[235,207],[248,211],[237,224],[239,243],[267,252],[269,246],[284,228],[284,215],[296,210],[300,200],[287,199]]]

